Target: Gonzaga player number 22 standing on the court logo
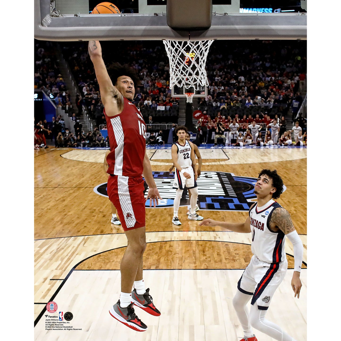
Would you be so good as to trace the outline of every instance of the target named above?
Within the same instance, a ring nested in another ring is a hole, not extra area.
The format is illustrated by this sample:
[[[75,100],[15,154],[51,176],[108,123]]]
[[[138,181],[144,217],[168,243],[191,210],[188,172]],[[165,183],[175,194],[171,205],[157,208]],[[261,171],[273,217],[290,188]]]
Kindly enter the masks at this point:
[[[172,145],[172,160],[176,167],[173,186],[173,188],[176,188],[176,195],[174,198],[174,214],[172,223],[175,225],[181,225],[178,217],[178,210],[185,185],[192,193],[190,199],[191,208],[188,219],[203,220],[204,218],[195,213],[196,201],[198,198],[198,189],[196,184],[198,173],[195,169],[196,161],[193,143],[186,140],[187,128],[184,125],[179,125],[176,128],[175,133],[178,136],[178,140]]]

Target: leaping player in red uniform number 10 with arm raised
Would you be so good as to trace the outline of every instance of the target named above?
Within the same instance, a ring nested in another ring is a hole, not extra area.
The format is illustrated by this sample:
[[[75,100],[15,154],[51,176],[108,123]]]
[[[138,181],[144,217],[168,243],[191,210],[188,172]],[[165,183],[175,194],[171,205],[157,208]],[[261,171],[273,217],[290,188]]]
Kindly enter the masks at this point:
[[[145,331],[147,326],[136,316],[134,304],[151,315],[160,315],[143,281],[145,202],[149,198],[149,206],[153,202],[155,207],[155,202],[158,204],[161,197],[146,153],[146,124],[139,109],[131,103],[135,94],[135,73],[116,65],[111,69],[110,79],[99,41],[89,41],[89,55],[100,86],[110,143],[110,153],[106,158],[109,174],[107,193],[118,211],[128,239],[120,265],[120,299],[110,308],[109,313],[129,328]],[[142,174],[149,186],[147,199],[144,198]]]

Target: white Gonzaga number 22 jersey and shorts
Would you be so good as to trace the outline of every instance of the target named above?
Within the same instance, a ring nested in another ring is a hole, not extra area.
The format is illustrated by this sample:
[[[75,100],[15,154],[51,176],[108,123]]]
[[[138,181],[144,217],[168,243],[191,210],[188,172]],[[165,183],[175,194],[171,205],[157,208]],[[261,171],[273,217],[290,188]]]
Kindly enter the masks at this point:
[[[185,170],[191,177],[186,179],[179,170],[175,169],[174,176],[174,184],[173,188],[183,190],[185,185],[187,188],[197,187],[196,181],[194,180],[194,171],[192,168],[192,160],[191,160],[191,146],[189,142],[186,140],[184,146],[180,145],[179,141],[174,143],[178,148],[178,164],[182,169]]]

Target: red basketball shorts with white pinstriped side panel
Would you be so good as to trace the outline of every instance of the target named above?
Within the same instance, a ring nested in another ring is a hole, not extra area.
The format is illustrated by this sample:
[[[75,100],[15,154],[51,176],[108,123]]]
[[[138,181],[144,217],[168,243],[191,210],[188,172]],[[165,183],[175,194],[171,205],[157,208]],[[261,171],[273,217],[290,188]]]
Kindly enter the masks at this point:
[[[110,175],[107,193],[117,209],[123,230],[146,226],[144,180],[140,177]]]

